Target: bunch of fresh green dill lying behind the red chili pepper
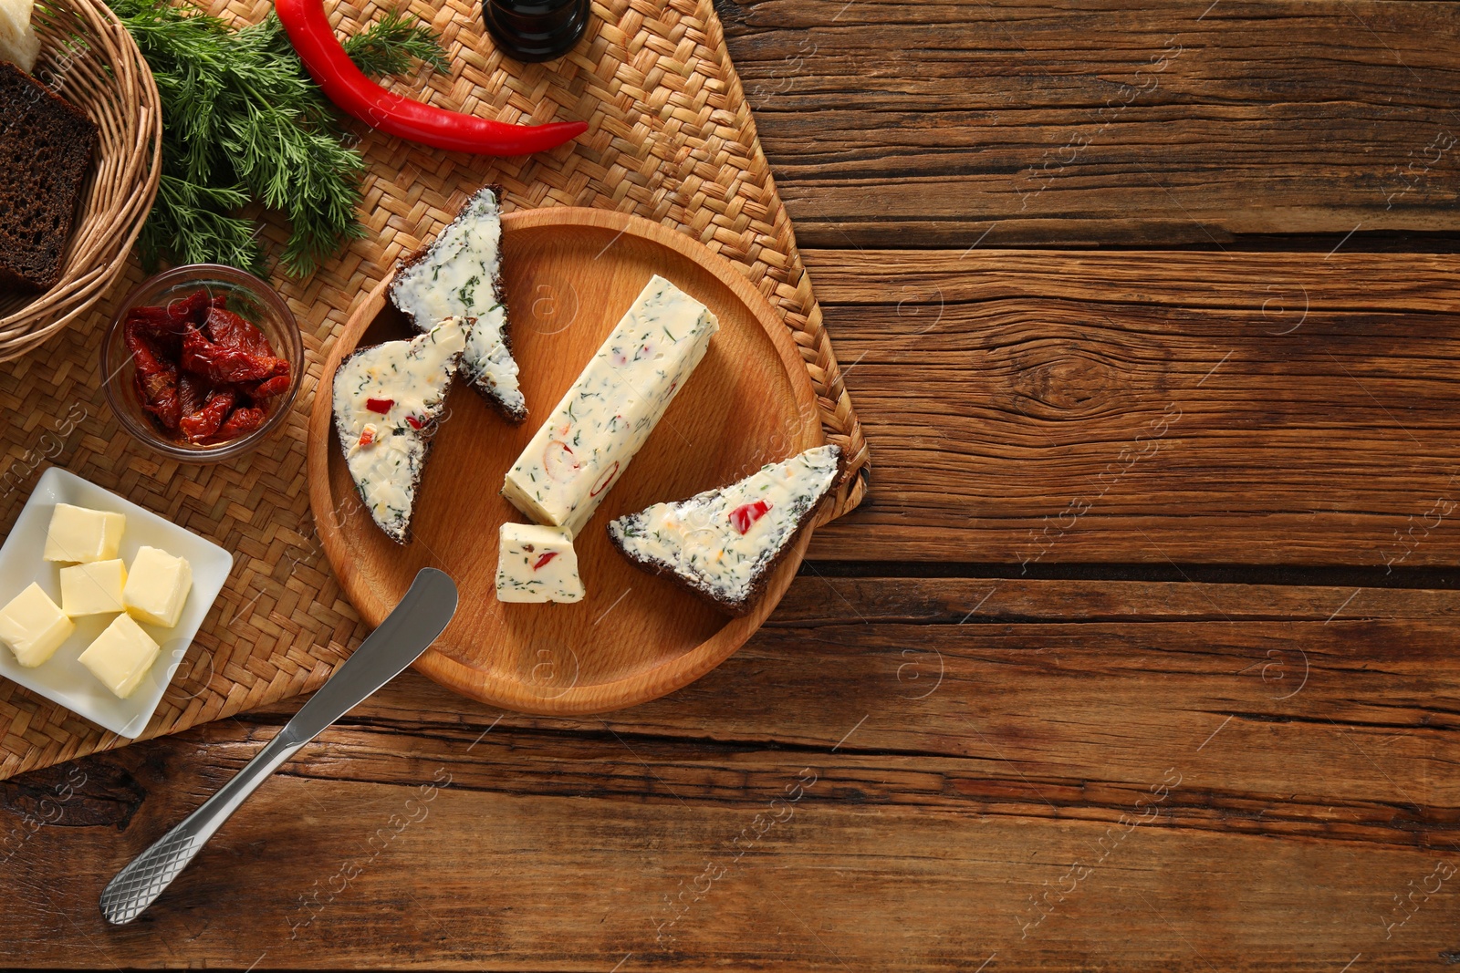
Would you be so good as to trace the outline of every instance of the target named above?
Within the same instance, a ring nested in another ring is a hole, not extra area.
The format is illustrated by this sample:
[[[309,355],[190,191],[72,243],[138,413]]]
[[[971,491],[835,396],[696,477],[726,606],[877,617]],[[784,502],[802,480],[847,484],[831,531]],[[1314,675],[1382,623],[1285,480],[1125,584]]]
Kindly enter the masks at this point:
[[[258,203],[289,220],[280,260],[296,277],[364,235],[361,153],[310,79],[279,19],[232,29],[168,0],[111,0],[152,66],[162,98],[162,179],[142,230],[153,268],[225,263],[261,273],[260,226],[238,210]],[[346,42],[359,67],[402,73],[413,58],[444,69],[431,31],[399,13]]]

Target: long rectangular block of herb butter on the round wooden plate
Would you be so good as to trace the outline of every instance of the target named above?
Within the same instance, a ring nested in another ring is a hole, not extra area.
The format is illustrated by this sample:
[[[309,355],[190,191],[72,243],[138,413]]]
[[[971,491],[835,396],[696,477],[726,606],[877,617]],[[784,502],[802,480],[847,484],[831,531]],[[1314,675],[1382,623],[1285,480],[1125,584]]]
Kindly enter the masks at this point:
[[[502,496],[577,535],[718,330],[705,305],[656,274],[508,470]]]

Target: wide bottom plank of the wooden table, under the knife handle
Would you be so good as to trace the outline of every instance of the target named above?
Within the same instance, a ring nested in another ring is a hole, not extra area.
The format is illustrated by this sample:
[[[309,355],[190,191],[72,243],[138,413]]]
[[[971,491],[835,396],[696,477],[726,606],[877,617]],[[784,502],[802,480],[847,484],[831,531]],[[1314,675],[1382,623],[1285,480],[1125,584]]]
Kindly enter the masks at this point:
[[[1431,966],[1460,942],[1457,626],[1450,591],[807,573],[723,667],[602,719],[406,674],[136,926],[95,913],[107,877],[291,706],[6,782],[19,823],[85,775],[6,849],[0,961]]]

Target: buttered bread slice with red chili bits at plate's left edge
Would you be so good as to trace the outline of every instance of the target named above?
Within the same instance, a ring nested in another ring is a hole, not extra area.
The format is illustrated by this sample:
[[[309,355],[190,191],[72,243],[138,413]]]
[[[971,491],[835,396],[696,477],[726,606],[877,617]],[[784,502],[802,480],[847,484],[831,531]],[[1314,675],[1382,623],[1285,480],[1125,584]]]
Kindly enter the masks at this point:
[[[334,372],[334,427],[350,478],[393,541],[410,541],[420,474],[466,349],[470,321],[445,318],[409,341],[361,349]]]

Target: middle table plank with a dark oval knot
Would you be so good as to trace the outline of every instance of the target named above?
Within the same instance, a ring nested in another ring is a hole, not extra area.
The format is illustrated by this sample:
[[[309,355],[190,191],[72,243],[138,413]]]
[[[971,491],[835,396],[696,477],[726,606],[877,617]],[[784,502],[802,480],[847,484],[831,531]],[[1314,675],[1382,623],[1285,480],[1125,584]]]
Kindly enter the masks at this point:
[[[1448,255],[807,251],[883,457],[821,559],[1451,565]]]

